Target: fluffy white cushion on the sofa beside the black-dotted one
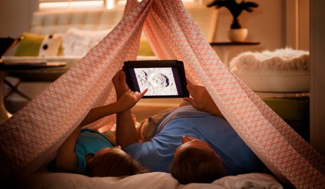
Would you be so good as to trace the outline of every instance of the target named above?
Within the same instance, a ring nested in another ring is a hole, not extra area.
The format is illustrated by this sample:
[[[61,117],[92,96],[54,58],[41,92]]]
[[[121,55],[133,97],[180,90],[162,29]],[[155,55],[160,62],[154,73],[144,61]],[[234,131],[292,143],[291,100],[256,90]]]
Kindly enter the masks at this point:
[[[64,56],[84,56],[111,30],[88,31],[70,28],[64,34],[62,43]]]

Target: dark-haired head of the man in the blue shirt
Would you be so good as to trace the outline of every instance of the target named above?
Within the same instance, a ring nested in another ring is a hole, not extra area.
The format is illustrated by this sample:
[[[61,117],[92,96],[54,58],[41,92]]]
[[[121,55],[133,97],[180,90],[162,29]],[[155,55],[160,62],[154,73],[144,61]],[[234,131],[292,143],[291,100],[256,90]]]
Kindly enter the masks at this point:
[[[212,183],[227,176],[220,157],[202,140],[182,137],[182,145],[175,150],[170,171],[181,184]]]

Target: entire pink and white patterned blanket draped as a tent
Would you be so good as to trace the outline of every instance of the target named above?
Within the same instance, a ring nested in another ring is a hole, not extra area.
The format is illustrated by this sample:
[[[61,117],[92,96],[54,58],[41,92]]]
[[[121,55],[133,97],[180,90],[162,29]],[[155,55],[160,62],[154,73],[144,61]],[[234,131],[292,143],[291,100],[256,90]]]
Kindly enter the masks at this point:
[[[219,59],[181,0],[128,0],[120,23],[68,72],[0,126],[1,180],[31,174],[91,108],[116,100],[111,82],[123,62],[136,60],[142,28],[159,59],[184,62],[224,117],[279,179],[297,188],[325,187],[325,162]],[[108,116],[88,127],[114,120]]]

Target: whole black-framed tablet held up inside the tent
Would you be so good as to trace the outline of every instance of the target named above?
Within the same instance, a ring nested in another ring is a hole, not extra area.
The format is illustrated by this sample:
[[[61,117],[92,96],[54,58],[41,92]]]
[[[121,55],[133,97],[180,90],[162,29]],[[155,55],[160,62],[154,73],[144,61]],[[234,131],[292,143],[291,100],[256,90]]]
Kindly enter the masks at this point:
[[[183,62],[177,60],[146,60],[124,62],[126,83],[132,91],[148,92],[142,98],[188,97]]]

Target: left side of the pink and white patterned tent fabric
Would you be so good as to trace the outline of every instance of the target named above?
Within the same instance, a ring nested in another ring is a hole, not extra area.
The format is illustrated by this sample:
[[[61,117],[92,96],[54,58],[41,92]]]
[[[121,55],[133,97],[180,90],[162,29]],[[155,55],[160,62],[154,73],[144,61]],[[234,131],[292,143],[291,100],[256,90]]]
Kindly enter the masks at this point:
[[[35,171],[56,154],[91,108],[115,101],[111,79],[124,61],[136,60],[151,3],[136,2],[85,57],[0,126],[1,180]],[[109,116],[90,126],[96,128],[112,119]]]

